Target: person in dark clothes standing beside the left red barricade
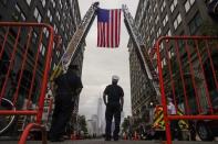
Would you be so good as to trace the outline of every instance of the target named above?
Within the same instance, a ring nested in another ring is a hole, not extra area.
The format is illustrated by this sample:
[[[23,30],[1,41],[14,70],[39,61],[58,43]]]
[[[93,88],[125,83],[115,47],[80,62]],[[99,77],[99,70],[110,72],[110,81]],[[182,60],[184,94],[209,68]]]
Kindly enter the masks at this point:
[[[65,126],[71,119],[75,99],[83,88],[81,78],[76,74],[77,70],[77,65],[70,65],[65,74],[54,79],[52,89],[55,90],[55,106],[49,134],[51,142],[63,141]]]

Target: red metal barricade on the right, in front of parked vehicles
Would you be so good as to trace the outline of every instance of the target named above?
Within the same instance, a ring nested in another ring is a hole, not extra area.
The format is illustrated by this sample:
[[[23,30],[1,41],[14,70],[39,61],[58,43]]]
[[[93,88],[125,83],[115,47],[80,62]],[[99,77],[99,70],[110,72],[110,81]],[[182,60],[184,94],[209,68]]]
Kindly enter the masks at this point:
[[[164,36],[156,48],[166,139],[172,144],[172,121],[218,121],[218,37]],[[169,114],[167,97],[184,115]]]

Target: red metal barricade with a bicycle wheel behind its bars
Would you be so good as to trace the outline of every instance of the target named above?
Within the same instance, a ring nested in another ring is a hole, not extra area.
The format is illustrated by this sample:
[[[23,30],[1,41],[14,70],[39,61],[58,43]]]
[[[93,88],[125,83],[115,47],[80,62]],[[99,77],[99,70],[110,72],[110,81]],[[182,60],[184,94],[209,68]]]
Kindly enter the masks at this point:
[[[0,115],[33,115],[35,121],[24,125],[22,144],[31,129],[45,131],[41,120],[53,37],[48,24],[0,22]]]

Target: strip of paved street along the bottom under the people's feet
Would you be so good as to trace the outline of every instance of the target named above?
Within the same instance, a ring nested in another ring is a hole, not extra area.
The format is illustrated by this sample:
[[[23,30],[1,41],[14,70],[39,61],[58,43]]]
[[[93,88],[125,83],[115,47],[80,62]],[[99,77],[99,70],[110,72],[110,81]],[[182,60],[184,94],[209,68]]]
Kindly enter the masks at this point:
[[[59,143],[48,144],[163,144],[162,141],[118,141],[118,142],[105,142],[103,140],[85,140],[85,141],[64,141]],[[0,144],[17,144],[15,141],[0,141]],[[40,141],[29,141],[27,144],[41,144]],[[188,141],[174,141],[173,144],[217,144],[216,142],[188,142]]]

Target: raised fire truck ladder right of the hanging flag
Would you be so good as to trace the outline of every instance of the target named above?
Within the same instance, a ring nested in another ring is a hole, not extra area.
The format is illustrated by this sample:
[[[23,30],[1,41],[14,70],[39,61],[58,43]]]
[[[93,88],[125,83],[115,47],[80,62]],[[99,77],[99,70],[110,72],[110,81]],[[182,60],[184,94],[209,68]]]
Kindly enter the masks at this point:
[[[128,34],[131,36],[131,41],[133,42],[134,47],[136,47],[137,56],[139,58],[139,62],[142,64],[142,68],[146,74],[146,77],[148,79],[148,86],[154,92],[157,102],[160,103],[160,91],[159,91],[159,84],[158,84],[158,75],[155,71],[155,68],[153,66],[152,59],[149,58],[149,55],[145,48],[145,44],[143,42],[143,38],[136,27],[136,24],[134,23],[134,19],[131,15],[131,12],[128,11],[126,5],[122,5],[123,13],[124,13],[124,23],[127,27]]]

